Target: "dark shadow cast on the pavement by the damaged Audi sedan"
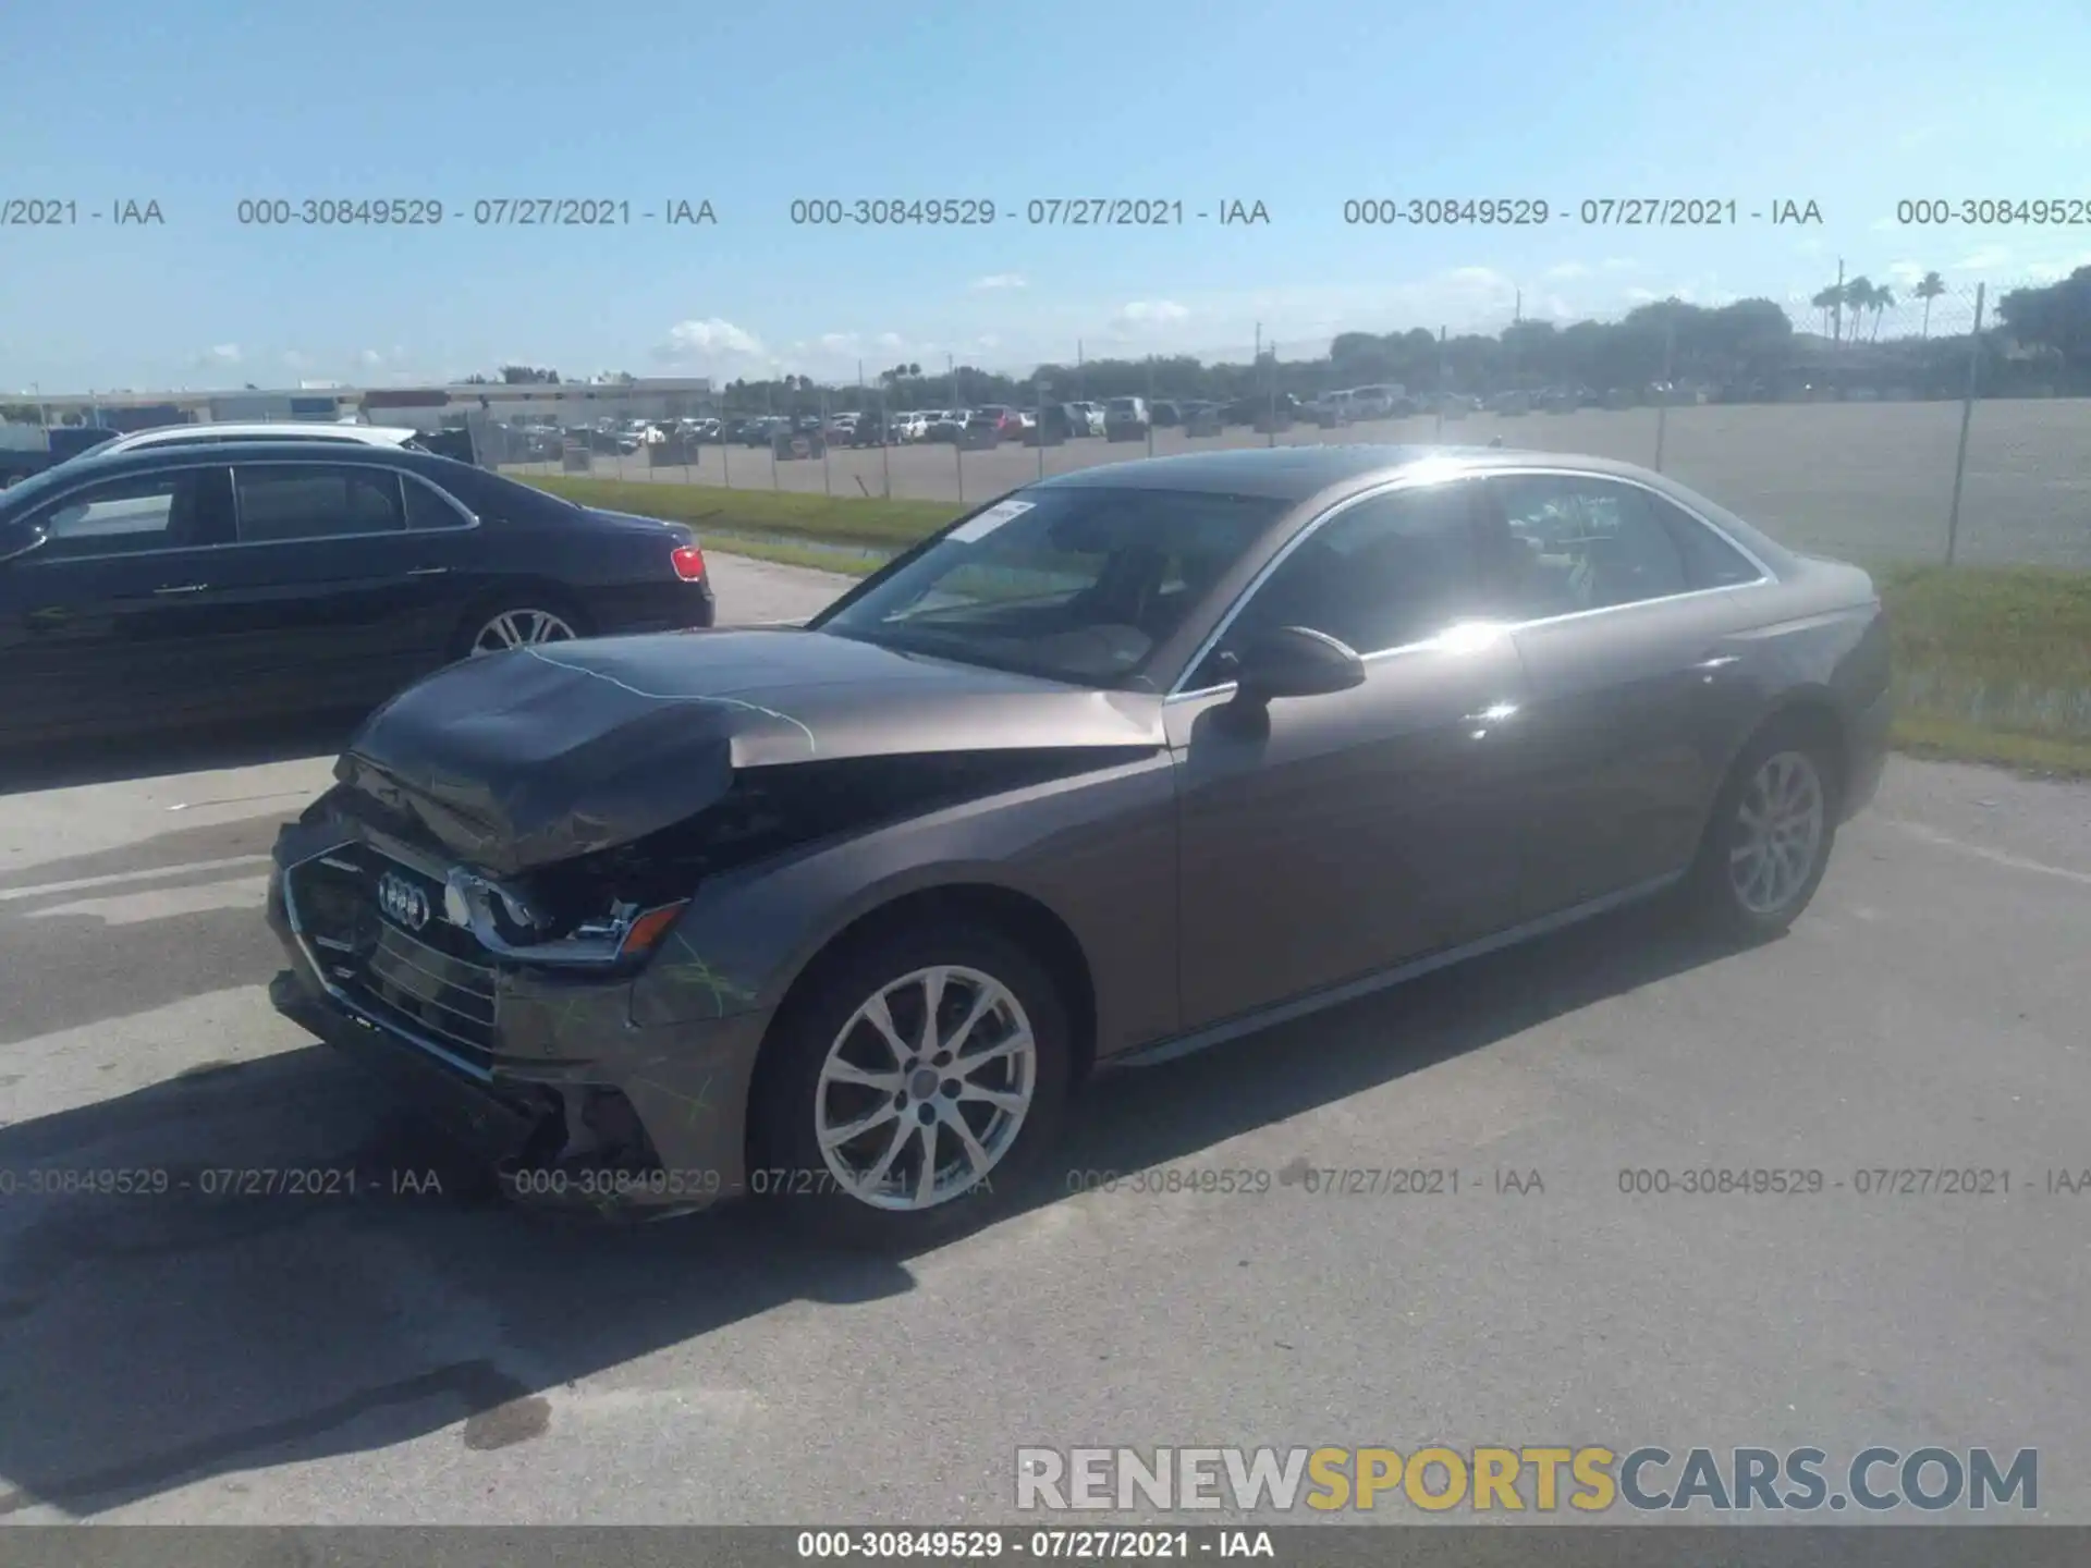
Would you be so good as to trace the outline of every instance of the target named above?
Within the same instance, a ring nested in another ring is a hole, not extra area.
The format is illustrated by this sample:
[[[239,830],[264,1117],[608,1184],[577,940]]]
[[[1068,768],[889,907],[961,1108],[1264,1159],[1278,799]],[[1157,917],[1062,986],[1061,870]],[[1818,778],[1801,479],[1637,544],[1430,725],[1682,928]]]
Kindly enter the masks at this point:
[[[1069,1171],[1194,1156],[1719,951],[1629,912],[1098,1079],[1016,1213],[1071,1202]],[[318,1045],[0,1127],[0,1516],[452,1430],[560,1443],[567,1384],[665,1346],[703,1359],[780,1305],[914,1288],[910,1259],[815,1252],[761,1208],[621,1227],[508,1208]]]

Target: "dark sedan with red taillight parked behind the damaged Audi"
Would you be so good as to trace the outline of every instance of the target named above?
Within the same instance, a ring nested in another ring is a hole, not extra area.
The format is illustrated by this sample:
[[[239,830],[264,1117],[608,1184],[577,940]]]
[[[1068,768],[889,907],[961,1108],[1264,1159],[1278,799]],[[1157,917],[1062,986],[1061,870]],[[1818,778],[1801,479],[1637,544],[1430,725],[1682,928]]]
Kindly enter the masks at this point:
[[[466,654],[711,621],[688,527],[429,454],[90,454],[0,493],[0,744],[368,709]]]

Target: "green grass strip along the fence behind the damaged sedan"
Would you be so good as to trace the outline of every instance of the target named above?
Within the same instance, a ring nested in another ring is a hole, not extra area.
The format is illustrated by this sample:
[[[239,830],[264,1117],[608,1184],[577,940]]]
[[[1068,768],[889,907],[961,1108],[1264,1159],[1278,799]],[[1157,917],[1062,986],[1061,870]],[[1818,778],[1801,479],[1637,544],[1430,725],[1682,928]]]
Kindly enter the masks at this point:
[[[861,552],[903,550],[966,510],[615,479],[531,483],[690,523],[734,554],[855,575],[880,560]],[[1874,579],[1894,638],[1901,748],[2091,778],[2091,571],[1876,567]]]

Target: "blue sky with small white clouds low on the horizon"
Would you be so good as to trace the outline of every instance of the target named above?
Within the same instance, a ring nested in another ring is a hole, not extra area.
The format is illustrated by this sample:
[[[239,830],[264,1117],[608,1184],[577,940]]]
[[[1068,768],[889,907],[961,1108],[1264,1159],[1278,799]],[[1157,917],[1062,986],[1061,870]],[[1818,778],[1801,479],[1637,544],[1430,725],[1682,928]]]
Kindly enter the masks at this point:
[[[1899,199],[2091,199],[2081,0],[98,0],[0,8],[0,391],[491,370],[849,378],[945,355],[1280,353],[1332,332],[1955,291],[2091,261],[2083,228],[1901,228]],[[1719,230],[1600,197],[1736,199]],[[429,197],[435,230],[243,228],[243,199]],[[477,228],[500,197],[631,226]],[[987,199],[985,228],[792,226],[801,197]],[[1052,197],[1269,224],[1033,228]],[[1365,228],[1357,197],[1531,197],[1545,228]],[[165,222],[113,228],[115,201]],[[644,222],[711,201],[715,226]],[[1817,203],[1821,226],[1750,222]],[[1968,305],[1938,301],[1966,322]],[[1890,328],[1892,330],[1892,328]]]

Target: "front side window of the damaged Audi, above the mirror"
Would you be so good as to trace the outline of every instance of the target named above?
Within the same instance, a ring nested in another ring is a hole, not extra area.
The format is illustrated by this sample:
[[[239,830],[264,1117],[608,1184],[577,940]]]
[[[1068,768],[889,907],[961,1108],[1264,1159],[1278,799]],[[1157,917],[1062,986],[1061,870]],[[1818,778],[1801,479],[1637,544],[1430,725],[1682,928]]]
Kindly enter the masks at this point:
[[[1472,481],[1347,506],[1301,539],[1255,590],[1192,688],[1230,679],[1225,654],[1280,627],[1303,625],[1353,652],[1376,654],[1487,615],[1476,539]]]

